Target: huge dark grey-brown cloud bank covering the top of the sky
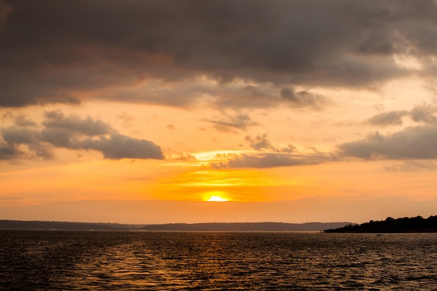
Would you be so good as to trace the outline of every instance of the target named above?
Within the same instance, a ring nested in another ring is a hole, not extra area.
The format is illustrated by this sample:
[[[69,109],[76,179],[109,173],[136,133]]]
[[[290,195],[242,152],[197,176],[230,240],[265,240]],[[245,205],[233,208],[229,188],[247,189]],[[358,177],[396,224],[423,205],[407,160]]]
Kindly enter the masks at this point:
[[[199,75],[278,88],[369,87],[410,73],[394,54],[426,59],[437,52],[434,0],[0,3],[7,8],[0,14],[3,107],[77,104],[83,93],[180,104],[177,96],[123,89]],[[423,65],[424,72],[435,66]]]

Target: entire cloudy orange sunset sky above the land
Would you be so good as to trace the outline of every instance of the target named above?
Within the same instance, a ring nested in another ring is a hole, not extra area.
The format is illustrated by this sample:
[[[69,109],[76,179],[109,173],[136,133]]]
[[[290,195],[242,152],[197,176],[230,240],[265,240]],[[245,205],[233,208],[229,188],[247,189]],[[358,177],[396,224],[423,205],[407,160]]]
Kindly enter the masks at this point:
[[[0,0],[0,219],[427,218],[436,76],[435,0]]]

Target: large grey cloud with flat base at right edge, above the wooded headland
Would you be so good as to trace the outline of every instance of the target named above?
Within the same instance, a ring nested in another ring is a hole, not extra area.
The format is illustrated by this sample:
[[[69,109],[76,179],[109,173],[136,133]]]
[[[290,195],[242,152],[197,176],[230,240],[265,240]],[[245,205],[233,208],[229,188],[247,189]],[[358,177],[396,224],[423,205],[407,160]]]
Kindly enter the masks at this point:
[[[437,158],[437,124],[408,127],[387,135],[376,131],[338,147],[345,156],[355,158],[434,159]]]

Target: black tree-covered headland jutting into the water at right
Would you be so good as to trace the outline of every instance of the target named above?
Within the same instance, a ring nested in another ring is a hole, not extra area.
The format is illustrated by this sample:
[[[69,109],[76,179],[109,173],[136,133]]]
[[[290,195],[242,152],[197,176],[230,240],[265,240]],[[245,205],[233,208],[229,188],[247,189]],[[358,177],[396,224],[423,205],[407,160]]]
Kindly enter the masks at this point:
[[[437,232],[437,216],[429,216],[429,218],[416,216],[397,219],[387,217],[385,221],[369,221],[359,225],[350,224],[336,229],[324,230],[324,232]]]

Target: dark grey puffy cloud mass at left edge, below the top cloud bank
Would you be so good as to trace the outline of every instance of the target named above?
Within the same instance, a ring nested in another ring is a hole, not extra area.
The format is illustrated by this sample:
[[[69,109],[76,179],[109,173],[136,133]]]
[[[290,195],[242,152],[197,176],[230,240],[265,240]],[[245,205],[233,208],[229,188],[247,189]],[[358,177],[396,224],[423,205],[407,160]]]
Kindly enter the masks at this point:
[[[117,133],[103,121],[80,119],[60,111],[46,112],[42,128],[10,126],[1,128],[0,159],[54,158],[55,148],[100,151],[104,158],[163,159],[158,145]]]

